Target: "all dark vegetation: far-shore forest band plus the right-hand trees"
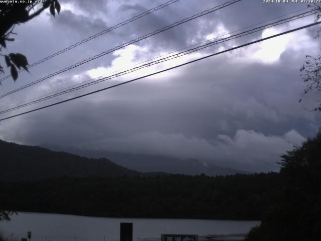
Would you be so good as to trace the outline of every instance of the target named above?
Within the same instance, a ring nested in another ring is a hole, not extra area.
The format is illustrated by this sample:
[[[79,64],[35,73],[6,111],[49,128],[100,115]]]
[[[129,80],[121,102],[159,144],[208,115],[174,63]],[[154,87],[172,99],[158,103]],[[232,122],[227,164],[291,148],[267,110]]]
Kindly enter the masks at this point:
[[[108,217],[256,219],[261,224],[249,232],[248,241],[320,240],[321,132],[283,155],[280,165],[280,173],[217,177],[138,173],[3,180],[0,210]]]

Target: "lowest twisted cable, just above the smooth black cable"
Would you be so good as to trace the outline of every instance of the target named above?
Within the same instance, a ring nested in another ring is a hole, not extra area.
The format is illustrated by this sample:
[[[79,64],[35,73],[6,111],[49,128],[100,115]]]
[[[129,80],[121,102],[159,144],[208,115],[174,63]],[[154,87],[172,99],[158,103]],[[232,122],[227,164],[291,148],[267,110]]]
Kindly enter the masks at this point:
[[[29,101],[29,102],[17,105],[15,107],[11,107],[11,108],[8,107],[5,110],[1,110],[0,114],[7,113],[7,112],[10,112],[10,111],[13,111],[13,110],[16,110],[16,109],[20,109],[22,107],[26,107],[26,106],[29,106],[29,105],[32,105],[32,104],[35,104],[35,103],[39,103],[39,102],[45,101],[47,99],[51,99],[51,98],[57,97],[57,96],[62,95],[62,94],[70,93],[70,92],[76,91],[78,89],[85,88],[85,87],[88,87],[88,86],[91,86],[91,85],[106,81],[108,79],[116,78],[116,77],[119,77],[121,75],[125,75],[125,74],[128,74],[128,73],[140,70],[142,68],[146,68],[146,67],[149,67],[149,66],[152,66],[152,65],[155,65],[155,64],[159,64],[159,63],[162,63],[162,62],[165,62],[165,61],[169,61],[171,59],[178,58],[178,57],[181,57],[181,56],[184,56],[184,55],[187,55],[187,54],[190,54],[190,53],[193,53],[193,52],[208,48],[208,47],[216,45],[216,44],[220,44],[220,43],[232,40],[232,39],[240,38],[240,37],[243,37],[243,36],[258,32],[258,31],[262,31],[262,30],[267,29],[267,28],[271,28],[271,27],[274,27],[274,26],[277,26],[277,25],[280,25],[280,24],[288,23],[290,21],[294,21],[294,20],[297,20],[297,19],[308,17],[310,15],[313,15],[313,14],[316,14],[316,13],[319,13],[319,12],[320,11],[314,11],[314,10],[307,11],[307,12],[302,13],[302,14],[298,14],[298,15],[295,15],[295,16],[292,16],[292,17],[289,17],[289,18],[286,18],[286,19],[283,19],[283,20],[276,21],[274,23],[269,23],[269,24],[266,24],[266,25],[263,25],[263,26],[248,30],[248,31],[244,31],[242,33],[235,34],[235,35],[232,35],[232,36],[224,38],[224,39],[219,39],[217,41],[213,41],[213,42],[210,42],[210,43],[207,43],[207,44],[204,44],[204,45],[201,45],[201,46],[198,46],[198,47],[195,47],[195,48],[192,48],[192,49],[189,49],[189,50],[186,50],[186,51],[183,51],[183,52],[180,52],[180,53],[177,53],[177,54],[165,57],[165,58],[157,59],[155,61],[143,64],[143,65],[131,68],[131,69],[127,69],[125,71],[118,72],[116,74],[109,75],[109,76],[104,77],[104,78],[99,78],[97,80],[94,80],[94,81],[91,81],[91,82],[87,82],[87,83],[82,84],[82,85],[78,85],[77,87],[65,88],[65,90],[60,91],[58,93],[54,93],[54,94],[51,94],[51,95],[46,95],[45,97],[39,97],[38,99],[35,99],[33,101]]]

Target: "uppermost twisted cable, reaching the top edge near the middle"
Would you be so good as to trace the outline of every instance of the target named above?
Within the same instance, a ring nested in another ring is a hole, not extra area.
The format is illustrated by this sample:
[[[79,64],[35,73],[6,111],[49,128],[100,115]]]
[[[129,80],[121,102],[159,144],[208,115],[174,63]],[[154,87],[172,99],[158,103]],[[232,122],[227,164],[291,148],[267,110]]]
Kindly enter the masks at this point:
[[[119,27],[122,27],[122,26],[124,26],[124,25],[126,25],[126,24],[129,24],[129,23],[131,23],[131,22],[133,22],[133,21],[135,21],[135,20],[137,20],[137,19],[140,19],[140,18],[142,18],[142,17],[144,17],[144,16],[146,16],[146,15],[148,15],[148,14],[151,14],[151,13],[153,13],[153,12],[159,10],[159,9],[163,9],[163,8],[165,8],[165,7],[167,7],[167,6],[171,5],[171,4],[174,4],[174,3],[178,2],[178,1],[180,1],[180,0],[171,0],[171,1],[167,2],[167,3],[165,3],[165,4],[161,4],[161,5],[157,6],[156,8],[149,9],[148,11],[146,11],[146,12],[144,12],[144,13],[141,13],[141,14],[139,14],[139,15],[137,15],[137,16],[135,16],[135,17],[132,17],[131,19],[128,19],[128,20],[126,20],[126,21],[124,21],[124,22],[122,22],[122,23],[120,23],[120,24],[117,24],[117,25],[112,26],[112,27],[110,27],[110,28],[108,28],[108,29],[105,29],[105,30],[103,30],[103,31],[101,31],[101,32],[99,32],[99,33],[97,33],[97,34],[94,34],[94,35],[92,35],[92,36],[90,36],[90,37],[88,37],[88,38],[86,38],[86,39],[83,39],[83,40],[81,40],[81,41],[79,41],[79,42],[77,42],[77,43],[75,43],[75,44],[73,44],[73,45],[70,45],[69,47],[67,47],[67,48],[65,48],[65,49],[62,49],[62,50],[60,50],[60,51],[58,51],[58,52],[56,52],[56,53],[54,53],[54,54],[52,54],[52,55],[49,55],[49,56],[46,57],[46,58],[43,58],[43,59],[41,59],[41,60],[39,60],[39,61],[31,64],[31,65],[28,65],[28,68],[30,69],[30,68],[38,65],[38,64],[41,64],[41,63],[43,63],[43,62],[46,62],[47,60],[52,59],[52,58],[56,57],[57,55],[60,55],[60,54],[62,54],[62,53],[65,53],[65,52],[67,52],[67,51],[69,51],[69,50],[71,50],[71,49],[73,49],[73,48],[75,48],[75,47],[77,47],[77,46],[79,46],[79,45],[81,45],[81,44],[84,44],[84,43],[86,43],[86,42],[88,42],[88,41],[90,41],[90,40],[92,40],[92,39],[95,39],[95,38],[103,35],[103,34],[106,34],[106,33],[110,32],[110,31],[112,31],[112,30],[115,30],[115,29],[117,29],[117,28],[119,28]],[[18,73],[23,72],[23,71],[25,71],[25,69],[22,68],[21,70],[18,71]],[[5,79],[8,79],[9,77],[11,77],[11,74],[9,74],[9,75],[1,78],[1,79],[0,79],[0,83],[2,83]]]

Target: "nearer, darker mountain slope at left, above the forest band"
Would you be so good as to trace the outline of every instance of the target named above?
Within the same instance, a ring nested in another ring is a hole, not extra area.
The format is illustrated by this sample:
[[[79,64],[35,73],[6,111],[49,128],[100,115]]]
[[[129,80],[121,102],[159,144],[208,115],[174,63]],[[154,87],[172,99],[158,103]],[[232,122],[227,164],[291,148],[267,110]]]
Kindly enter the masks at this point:
[[[121,167],[106,158],[92,159],[0,140],[0,180],[48,177],[115,177],[142,173]]]

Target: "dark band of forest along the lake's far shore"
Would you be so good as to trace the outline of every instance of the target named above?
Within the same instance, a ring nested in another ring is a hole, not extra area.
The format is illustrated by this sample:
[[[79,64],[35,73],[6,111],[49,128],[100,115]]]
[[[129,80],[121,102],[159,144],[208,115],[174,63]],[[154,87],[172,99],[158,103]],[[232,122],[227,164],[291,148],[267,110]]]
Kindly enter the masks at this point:
[[[8,210],[108,217],[261,219],[277,202],[277,173],[52,178],[0,182]]]

